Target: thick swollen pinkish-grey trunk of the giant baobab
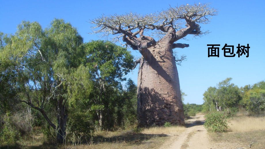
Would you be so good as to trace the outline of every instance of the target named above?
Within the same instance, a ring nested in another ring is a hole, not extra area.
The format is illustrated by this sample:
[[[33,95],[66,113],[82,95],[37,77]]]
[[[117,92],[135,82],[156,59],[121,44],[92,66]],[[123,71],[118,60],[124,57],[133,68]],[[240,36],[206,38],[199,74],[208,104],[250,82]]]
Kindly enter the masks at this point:
[[[141,126],[184,125],[179,76],[172,44],[160,40],[148,48],[138,71],[138,119]]]

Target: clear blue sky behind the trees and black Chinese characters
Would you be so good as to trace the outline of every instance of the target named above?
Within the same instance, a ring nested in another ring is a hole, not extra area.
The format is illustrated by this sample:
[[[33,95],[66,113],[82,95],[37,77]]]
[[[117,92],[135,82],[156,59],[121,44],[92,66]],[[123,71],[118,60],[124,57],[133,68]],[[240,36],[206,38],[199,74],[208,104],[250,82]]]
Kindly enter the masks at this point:
[[[265,3],[260,1],[195,1],[196,3],[211,2],[211,7],[219,10],[218,16],[213,16],[210,24],[202,24],[201,29],[211,33],[190,41],[179,40],[178,43],[190,44],[185,49],[177,49],[179,55],[188,58],[182,66],[178,66],[181,89],[188,95],[184,103],[203,103],[203,93],[210,86],[232,77],[232,83],[238,87],[254,84],[265,79]],[[194,4],[194,1],[7,1],[0,0],[0,31],[14,34],[17,25],[26,21],[37,21],[43,28],[47,27],[54,18],[63,18],[70,22],[84,38],[84,42],[100,39],[91,32],[86,21],[101,14],[124,14],[136,12],[150,14],[171,6]],[[249,44],[249,57],[224,57],[222,47],[227,43],[236,46]],[[119,43],[117,43],[119,44]],[[208,58],[207,44],[220,44],[220,57]],[[139,53],[133,51],[135,56]],[[137,83],[136,68],[129,74]]]

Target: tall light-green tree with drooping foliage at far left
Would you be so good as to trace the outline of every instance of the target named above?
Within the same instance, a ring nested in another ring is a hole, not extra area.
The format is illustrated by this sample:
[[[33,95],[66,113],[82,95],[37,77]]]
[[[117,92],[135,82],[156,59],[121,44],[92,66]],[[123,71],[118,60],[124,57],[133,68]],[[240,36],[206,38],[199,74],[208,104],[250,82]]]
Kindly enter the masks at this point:
[[[12,64],[18,77],[20,101],[41,112],[63,143],[69,106],[88,96],[92,88],[90,74],[81,64],[85,52],[77,28],[62,19],[45,29],[37,22],[23,21],[0,52],[1,64]],[[56,111],[57,121],[48,117],[47,107]]]

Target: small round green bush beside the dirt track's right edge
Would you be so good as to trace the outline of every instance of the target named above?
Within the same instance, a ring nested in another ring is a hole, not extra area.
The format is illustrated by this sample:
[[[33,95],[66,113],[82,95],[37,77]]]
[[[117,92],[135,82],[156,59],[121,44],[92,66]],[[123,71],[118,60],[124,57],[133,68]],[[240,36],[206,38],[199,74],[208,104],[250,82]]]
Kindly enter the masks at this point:
[[[211,112],[205,115],[204,127],[209,132],[224,132],[229,128],[227,121],[228,117],[223,112]]]

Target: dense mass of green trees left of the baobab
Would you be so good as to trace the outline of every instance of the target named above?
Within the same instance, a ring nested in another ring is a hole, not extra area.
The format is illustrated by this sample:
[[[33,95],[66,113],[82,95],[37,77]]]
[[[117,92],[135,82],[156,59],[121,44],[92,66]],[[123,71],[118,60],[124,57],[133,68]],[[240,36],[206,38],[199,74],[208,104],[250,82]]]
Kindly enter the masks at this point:
[[[44,29],[23,21],[14,35],[0,33],[0,41],[0,144],[14,144],[39,126],[59,143],[89,139],[98,127],[137,126],[136,85],[121,84],[133,68],[126,48],[83,43],[62,19]]]

